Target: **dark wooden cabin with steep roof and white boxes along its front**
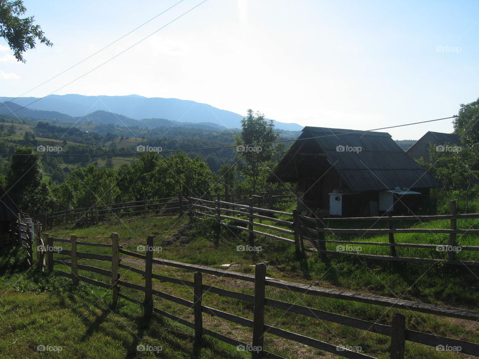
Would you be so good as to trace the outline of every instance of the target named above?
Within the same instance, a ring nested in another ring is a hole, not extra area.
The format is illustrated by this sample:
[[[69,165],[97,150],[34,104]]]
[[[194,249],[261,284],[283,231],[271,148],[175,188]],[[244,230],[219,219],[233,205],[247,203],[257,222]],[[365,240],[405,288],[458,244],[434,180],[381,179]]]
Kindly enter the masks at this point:
[[[415,213],[441,184],[385,132],[305,127],[268,177],[297,184],[303,214]]]

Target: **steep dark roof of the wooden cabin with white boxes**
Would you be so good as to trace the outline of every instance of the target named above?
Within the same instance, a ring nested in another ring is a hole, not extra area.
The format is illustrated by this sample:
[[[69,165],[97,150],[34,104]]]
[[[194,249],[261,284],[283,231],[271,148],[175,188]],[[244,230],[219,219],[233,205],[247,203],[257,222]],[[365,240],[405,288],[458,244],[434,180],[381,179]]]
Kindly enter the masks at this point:
[[[361,148],[340,152],[338,146]],[[295,158],[300,154],[325,156],[351,191],[395,187],[427,188],[441,184],[411,159],[386,132],[305,127],[276,169],[270,182],[296,182]]]

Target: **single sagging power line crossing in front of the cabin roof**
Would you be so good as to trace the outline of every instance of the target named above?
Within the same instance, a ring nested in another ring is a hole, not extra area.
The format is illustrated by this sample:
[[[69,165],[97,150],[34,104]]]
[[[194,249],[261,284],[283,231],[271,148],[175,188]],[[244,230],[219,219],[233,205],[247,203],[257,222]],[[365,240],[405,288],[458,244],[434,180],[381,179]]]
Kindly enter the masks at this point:
[[[205,0],[206,1],[206,0]],[[270,141],[270,142],[259,142],[255,144],[248,144],[248,145],[243,145],[243,146],[260,146],[260,145],[270,145],[270,144],[277,144],[277,143],[285,143],[285,142],[294,142],[294,141],[304,141],[304,140],[313,140],[313,139],[319,139],[319,138],[325,138],[325,137],[331,137],[331,136],[342,136],[342,135],[351,135],[355,134],[358,132],[364,132],[365,134],[368,132],[372,131],[378,131],[378,130],[387,130],[387,129],[393,129],[393,128],[398,128],[398,127],[405,127],[405,126],[412,126],[412,125],[419,125],[423,123],[428,123],[428,122],[436,122],[436,121],[442,121],[442,120],[449,120],[452,118],[456,118],[457,116],[450,116],[450,117],[443,117],[435,120],[427,120],[427,121],[420,121],[420,122],[411,122],[407,124],[402,124],[402,125],[395,125],[395,126],[388,126],[388,127],[381,127],[377,129],[372,129],[372,130],[367,130],[367,131],[350,131],[350,132],[344,132],[340,134],[331,134],[331,135],[323,135],[323,136],[314,136],[314,137],[304,137],[301,139],[292,139],[292,140],[277,140],[277,141]],[[152,139],[154,140],[154,139]],[[236,148],[236,145],[230,145],[230,146],[217,146],[217,147],[201,147],[201,148],[195,148],[195,149],[184,149],[184,150],[167,150],[167,151],[159,151],[158,154],[164,154],[164,153],[175,153],[175,152],[194,152],[194,151],[207,151],[207,150],[222,150],[222,149],[228,149],[228,148]],[[47,154],[47,153],[42,153],[40,154],[41,156],[115,156],[115,155],[121,155],[121,156],[126,156],[126,155],[140,155],[142,153],[156,153],[156,152],[117,152],[117,153],[102,153],[102,154]],[[5,153],[0,153],[0,156],[10,156],[13,154],[5,154]],[[15,155],[24,155],[24,156],[31,156],[29,154],[15,154]]]

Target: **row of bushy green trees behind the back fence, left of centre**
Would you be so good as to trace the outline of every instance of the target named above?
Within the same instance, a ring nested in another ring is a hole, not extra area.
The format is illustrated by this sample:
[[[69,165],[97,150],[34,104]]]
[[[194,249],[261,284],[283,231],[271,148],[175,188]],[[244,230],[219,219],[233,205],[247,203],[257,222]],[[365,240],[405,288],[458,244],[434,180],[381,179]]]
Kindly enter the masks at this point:
[[[72,171],[53,189],[55,209],[173,197],[180,190],[203,195],[210,192],[212,178],[208,165],[198,157],[145,153],[118,170],[90,164]]]

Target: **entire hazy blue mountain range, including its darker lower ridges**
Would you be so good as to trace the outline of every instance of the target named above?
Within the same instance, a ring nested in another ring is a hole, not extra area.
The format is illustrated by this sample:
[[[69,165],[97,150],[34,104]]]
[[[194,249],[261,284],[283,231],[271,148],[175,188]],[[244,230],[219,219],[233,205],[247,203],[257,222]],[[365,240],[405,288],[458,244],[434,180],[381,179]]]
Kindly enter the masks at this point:
[[[208,104],[175,98],[128,96],[49,95],[37,97],[0,97],[0,114],[16,111],[18,117],[140,126],[147,128],[177,126],[202,128],[240,128],[243,115]],[[27,106],[20,109],[21,106]],[[299,131],[295,123],[274,121],[278,130]]]

